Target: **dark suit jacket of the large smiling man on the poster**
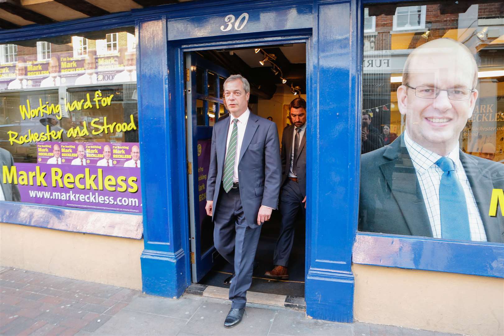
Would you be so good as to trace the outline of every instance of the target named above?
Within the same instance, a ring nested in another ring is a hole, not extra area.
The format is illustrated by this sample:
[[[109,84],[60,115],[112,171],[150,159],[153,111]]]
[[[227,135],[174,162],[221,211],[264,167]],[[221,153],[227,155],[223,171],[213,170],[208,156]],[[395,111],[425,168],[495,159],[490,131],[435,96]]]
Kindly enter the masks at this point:
[[[488,216],[493,188],[504,188],[501,163],[460,151],[487,241],[504,242],[504,219]],[[432,237],[422,190],[403,136],[361,156],[359,230]]]

